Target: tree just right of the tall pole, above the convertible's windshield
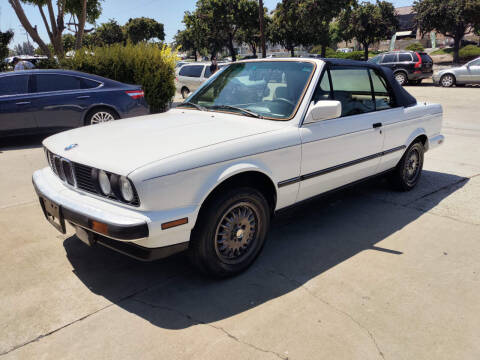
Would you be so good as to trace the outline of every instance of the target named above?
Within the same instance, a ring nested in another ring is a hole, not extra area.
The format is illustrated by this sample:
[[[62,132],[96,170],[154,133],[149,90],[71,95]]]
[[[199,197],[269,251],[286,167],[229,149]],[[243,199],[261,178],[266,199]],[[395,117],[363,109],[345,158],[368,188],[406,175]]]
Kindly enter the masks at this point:
[[[290,51],[292,57],[295,56],[296,46],[311,42],[304,6],[305,0],[282,0],[273,13],[272,41]]]

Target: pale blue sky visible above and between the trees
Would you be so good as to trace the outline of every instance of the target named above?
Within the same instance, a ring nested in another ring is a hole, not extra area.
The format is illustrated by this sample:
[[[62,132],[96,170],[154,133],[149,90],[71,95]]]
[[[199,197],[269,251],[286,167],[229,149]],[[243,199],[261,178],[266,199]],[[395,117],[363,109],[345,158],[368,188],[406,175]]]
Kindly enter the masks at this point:
[[[264,6],[273,10],[278,2],[278,0],[264,0]],[[371,0],[371,2],[374,2],[374,0]],[[120,25],[123,25],[129,18],[150,17],[164,24],[165,41],[169,43],[173,40],[177,30],[183,28],[183,13],[187,10],[194,10],[195,3],[196,0],[104,0],[102,15],[97,23],[100,24],[114,19]],[[395,7],[409,6],[413,3],[413,0],[393,0],[392,3]],[[31,5],[23,5],[23,8],[31,24],[38,25],[40,36],[48,43],[49,39],[38,8]],[[6,31],[8,29],[15,32],[10,47],[27,40],[25,31],[8,1],[0,0],[0,30]]]

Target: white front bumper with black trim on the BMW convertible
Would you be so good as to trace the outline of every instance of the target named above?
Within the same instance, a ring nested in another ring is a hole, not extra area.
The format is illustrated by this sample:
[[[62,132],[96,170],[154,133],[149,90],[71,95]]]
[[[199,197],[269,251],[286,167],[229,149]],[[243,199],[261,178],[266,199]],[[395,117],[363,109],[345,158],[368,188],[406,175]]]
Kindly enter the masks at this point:
[[[189,227],[159,230],[169,214],[142,212],[82,194],[65,185],[50,168],[36,171],[32,182],[47,220],[46,204],[58,205],[60,225],[54,226],[65,232],[64,224],[69,222],[84,242],[100,243],[146,261],[188,247]]]

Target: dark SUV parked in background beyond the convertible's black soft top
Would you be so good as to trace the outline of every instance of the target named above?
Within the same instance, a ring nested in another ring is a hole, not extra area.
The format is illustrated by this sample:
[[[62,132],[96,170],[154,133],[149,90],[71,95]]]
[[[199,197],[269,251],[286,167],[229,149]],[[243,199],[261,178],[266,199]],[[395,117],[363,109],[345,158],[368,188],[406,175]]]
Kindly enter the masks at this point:
[[[427,53],[393,51],[380,54],[369,62],[387,66],[393,70],[400,85],[419,85],[423,79],[432,77],[433,60]]]

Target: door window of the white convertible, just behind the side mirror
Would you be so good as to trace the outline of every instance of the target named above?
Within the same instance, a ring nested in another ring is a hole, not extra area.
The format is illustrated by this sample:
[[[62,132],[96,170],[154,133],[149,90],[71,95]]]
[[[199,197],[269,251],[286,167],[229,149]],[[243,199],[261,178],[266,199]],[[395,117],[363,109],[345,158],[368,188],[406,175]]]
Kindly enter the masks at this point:
[[[342,103],[342,116],[375,110],[367,68],[333,68],[330,70],[333,98]]]

